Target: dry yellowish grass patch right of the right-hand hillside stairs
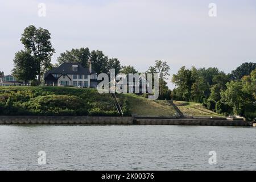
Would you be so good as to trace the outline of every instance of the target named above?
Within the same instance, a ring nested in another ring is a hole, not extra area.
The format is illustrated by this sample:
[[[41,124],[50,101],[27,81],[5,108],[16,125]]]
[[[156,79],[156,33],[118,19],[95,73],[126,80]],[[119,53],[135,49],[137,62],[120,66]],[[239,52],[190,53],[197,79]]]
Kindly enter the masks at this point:
[[[224,117],[221,114],[217,114],[211,110],[205,109],[205,107],[199,103],[174,101],[174,104],[185,116]]]

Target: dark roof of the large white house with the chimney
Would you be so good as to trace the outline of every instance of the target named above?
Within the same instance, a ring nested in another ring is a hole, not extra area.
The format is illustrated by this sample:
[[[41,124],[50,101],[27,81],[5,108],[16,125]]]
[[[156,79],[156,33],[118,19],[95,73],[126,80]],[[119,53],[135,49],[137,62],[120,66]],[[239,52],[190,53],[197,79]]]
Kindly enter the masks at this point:
[[[73,65],[77,66],[77,72],[73,71]],[[57,68],[52,68],[50,71],[46,72],[44,77],[49,74],[60,74],[60,75],[90,75],[97,74],[94,70],[92,73],[89,72],[89,68],[84,68],[80,63],[63,63]]]

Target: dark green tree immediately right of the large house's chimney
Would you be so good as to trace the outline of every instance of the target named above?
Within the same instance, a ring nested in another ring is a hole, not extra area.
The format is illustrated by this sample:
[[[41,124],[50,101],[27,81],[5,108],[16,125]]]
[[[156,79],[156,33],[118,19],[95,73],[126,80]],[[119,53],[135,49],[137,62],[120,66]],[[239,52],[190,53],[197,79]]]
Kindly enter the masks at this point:
[[[90,53],[92,69],[97,73],[108,73],[108,56],[105,56],[102,51],[92,51]]]

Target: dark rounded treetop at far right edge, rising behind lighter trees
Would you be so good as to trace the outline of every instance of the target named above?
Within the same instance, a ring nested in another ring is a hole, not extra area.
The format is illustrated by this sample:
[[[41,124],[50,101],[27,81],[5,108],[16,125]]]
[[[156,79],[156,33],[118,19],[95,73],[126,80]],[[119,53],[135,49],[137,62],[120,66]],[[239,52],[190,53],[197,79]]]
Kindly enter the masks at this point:
[[[256,63],[243,63],[232,71],[232,80],[240,80],[243,76],[250,75],[251,71],[256,68]]]

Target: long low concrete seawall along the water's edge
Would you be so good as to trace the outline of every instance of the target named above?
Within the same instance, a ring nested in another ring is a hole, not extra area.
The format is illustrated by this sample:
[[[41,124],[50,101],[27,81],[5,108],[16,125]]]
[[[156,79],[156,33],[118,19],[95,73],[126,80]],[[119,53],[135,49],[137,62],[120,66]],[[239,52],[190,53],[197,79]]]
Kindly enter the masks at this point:
[[[250,126],[247,121],[204,118],[133,118],[133,117],[44,117],[0,116],[0,125],[201,125],[201,126]]]

